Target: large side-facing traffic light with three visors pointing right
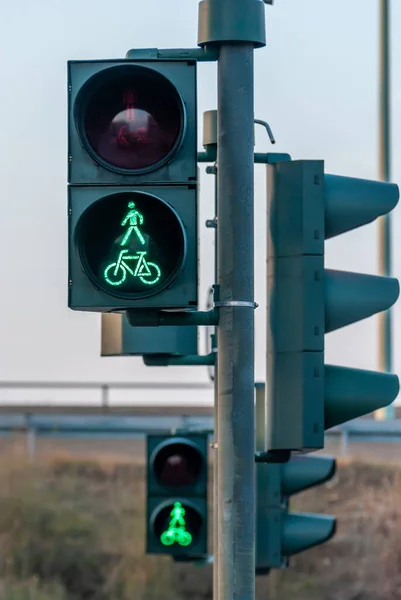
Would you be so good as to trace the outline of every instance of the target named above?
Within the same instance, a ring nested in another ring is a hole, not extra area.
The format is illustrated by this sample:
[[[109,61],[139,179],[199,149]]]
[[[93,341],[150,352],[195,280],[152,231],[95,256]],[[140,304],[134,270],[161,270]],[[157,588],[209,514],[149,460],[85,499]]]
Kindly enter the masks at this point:
[[[394,401],[396,375],[324,365],[324,334],[388,309],[397,279],[324,269],[324,242],[397,204],[397,185],[268,165],[267,448],[324,447],[324,431]]]

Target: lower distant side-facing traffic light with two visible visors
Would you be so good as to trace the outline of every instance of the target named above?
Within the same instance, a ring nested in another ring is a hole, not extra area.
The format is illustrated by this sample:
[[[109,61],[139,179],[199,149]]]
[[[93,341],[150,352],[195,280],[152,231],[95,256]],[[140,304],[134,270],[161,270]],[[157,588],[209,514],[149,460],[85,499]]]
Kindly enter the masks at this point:
[[[289,558],[327,542],[336,530],[329,515],[289,511],[289,497],[330,481],[331,457],[293,456],[285,464],[257,463],[256,574],[288,566]]]

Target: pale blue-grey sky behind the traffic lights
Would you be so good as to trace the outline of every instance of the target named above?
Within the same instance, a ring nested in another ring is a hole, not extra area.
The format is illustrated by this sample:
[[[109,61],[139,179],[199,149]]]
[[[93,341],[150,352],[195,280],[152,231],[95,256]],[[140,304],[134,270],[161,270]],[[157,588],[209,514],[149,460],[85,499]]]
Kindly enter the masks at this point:
[[[401,185],[401,3],[392,4],[392,175]],[[256,150],[324,159],[329,173],[377,177],[378,0],[276,0],[267,46],[255,53]],[[100,357],[100,315],[67,308],[67,60],[123,58],[130,48],[193,47],[195,0],[20,0],[0,24],[0,380],[207,382],[197,368],[149,368]],[[202,114],[217,107],[216,64],[198,68]],[[213,178],[201,166],[201,223],[213,216]],[[265,376],[265,167],[255,167],[256,379]],[[393,212],[393,273],[401,272],[401,208]],[[330,268],[375,273],[376,225],[327,244]],[[212,283],[213,233],[201,233],[200,298]],[[401,301],[393,311],[401,371]],[[201,351],[204,350],[202,335]],[[375,369],[377,320],[326,336],[326,362]],[[190,396],[190,398],[188,397]],[[96,401],[96,393],[0,390],[0,401]],[[115,401],[212,400],[211,392],[121,393]]]

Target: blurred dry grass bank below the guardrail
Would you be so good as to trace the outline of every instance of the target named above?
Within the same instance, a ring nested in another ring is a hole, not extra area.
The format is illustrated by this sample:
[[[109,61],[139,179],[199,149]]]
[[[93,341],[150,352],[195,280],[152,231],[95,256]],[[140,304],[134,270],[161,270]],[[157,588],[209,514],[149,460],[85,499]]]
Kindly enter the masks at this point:
[[[400,498],[399,466],[340,462],[333,481],[292,502],[336,515],[336,536],[258,577],[257,598],[401,598]],[[144,501],[138,463],[10,460],[0,469],[0,598],[211,599],[210,567],[144,554]]]

